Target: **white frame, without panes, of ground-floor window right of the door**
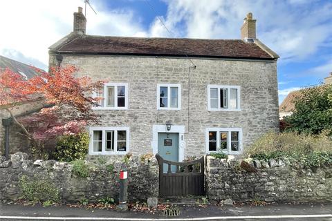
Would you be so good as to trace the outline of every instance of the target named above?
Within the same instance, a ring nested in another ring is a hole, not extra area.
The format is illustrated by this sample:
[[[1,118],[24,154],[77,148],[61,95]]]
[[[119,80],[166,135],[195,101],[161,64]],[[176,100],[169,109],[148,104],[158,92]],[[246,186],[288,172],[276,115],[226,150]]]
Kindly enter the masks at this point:
[[[209,151],[209,133],[210,133],[210,131],[216,131],[216,151]],[[227,132],[227,150],[226,151],[222,151],[220,149],[220,133],[221,132]],[[239,151],[232,151],[231,132],[239,132]],[[205,151],[206,151],[206,153],[223,152],[223,153],[232,154],[232,155],[241,154],[242,153],[242,128],[219,128],[219,127],[206,128]]]

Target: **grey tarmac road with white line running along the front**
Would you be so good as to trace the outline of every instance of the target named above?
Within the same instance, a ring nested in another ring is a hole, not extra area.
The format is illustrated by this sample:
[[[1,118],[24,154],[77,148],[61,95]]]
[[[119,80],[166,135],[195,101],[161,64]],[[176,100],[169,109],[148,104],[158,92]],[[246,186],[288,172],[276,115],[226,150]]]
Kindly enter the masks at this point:
[[[332,221],[331,204],[269,204],[265,206],[177,205],[178,216],[156,213],[118,212],[108,209],[71,208],[36,204],[0,204],[0,220],[317,220]]]

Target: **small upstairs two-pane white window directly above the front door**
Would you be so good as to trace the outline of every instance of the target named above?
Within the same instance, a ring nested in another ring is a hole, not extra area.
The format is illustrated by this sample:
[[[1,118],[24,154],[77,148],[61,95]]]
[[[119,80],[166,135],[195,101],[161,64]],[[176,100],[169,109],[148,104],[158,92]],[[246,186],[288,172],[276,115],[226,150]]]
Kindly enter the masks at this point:
[[[181,84],[157,85],[157,109],[181,110]]]

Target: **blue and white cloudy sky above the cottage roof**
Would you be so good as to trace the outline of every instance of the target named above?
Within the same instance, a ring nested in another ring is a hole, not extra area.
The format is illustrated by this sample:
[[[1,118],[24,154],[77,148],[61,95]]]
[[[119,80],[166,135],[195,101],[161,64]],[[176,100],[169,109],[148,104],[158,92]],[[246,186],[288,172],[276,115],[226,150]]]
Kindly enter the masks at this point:
[[[279,103],[332,72],[332,0],[90,0],[88,35],[239,39],[243,18],[277,52]],[[48,68],[48,47],[73,29],[84,0],[0,0],[0,55]],[[161,19],[167,29],[163,26]],[[168,31],[167,31],[168,30]]]

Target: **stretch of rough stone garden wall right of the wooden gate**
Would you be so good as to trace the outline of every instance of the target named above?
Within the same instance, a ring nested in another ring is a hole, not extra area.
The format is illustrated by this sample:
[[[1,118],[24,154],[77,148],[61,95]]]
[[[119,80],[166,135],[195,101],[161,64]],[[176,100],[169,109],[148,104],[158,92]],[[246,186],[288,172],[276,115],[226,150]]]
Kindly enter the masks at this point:
[[[282,160],[254,160],[240,165],[241,161],[235,159],[207,157],[205,190],[210,200],[332,200],[332,167],[303,169]]]

